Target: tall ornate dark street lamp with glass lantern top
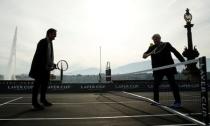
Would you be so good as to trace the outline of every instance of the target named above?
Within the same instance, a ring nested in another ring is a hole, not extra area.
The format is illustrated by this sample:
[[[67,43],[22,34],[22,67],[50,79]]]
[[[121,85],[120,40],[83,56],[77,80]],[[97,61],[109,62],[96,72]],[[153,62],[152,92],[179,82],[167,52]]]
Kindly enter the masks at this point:
[[[186,25],[184,27],[187,28],[188,47],[185,47],[182,55],[186,57],[187,60],[193,60],[199,56],[199,52],[195,46],[193,47],[192,32],[191,32],[191,28],[193,27],[193,24],[191,24],[192,15],[190,14],[188,8],[186,10],[186,13],[184,14],[184,19],[186,21]],[[199,70],[196,67],[196,63],[187,65],[185,73],[190,75],[189,78],[190,80],[197,80],[199,75]]]

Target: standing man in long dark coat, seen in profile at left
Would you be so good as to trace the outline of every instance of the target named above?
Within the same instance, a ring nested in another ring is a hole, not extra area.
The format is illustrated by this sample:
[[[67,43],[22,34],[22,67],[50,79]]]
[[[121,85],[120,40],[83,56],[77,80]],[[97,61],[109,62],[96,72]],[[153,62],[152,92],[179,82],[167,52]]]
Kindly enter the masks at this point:
[[[33,57],[29,76],[35,79],[32,89],[32,105],[34,109],[41,110],[44,109],[44,106],[52,105],[46,99],[46,92],[50,79],[50,71],[55,68],[52,43],[55,37],[56,30],[50,28],[46,33],[46,38],[39,41]],[[40,105],[37,100],[39,89],[41,89],[40,102],[44,106]]]

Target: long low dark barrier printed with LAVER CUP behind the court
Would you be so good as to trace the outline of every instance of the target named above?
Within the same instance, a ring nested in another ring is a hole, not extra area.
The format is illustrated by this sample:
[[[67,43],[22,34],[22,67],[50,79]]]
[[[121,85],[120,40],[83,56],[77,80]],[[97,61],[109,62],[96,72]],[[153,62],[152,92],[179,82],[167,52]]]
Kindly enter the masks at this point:
[[[30,93],[33,80],[0,81],[0,93]],[[180,90],[200,90],[200,84],[187,80],[177,80]],[[210,83],[210,80],[207,81]],[[115,80],[112,83],[63,83],[51,81],[48,92],[91,92],[91,91],[152,91],[153,80]],[[160,85],[161,91],[169,91],[167,80]]]

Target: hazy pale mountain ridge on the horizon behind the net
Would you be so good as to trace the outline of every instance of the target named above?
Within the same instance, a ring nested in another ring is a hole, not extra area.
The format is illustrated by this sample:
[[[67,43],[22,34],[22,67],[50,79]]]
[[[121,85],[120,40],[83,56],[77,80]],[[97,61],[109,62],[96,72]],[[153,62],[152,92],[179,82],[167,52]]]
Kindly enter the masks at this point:
[[[175,62],[179,62],[178,60],[175,60]],[[136,71],[142,71],[142,70],[147,70],[151,69],[151,61],[143,61],[143,62],[135,62],[135,63],[129,63],[117,68],[111,68],[112,69],[112,74],[124,74],[124,73],[131,73],[131,72],[136,72]],[[181,71],[183,69],[177,67],[178,71]],[[210,72],[210,58],[207,58],[207,71]],[[102,71],[104,73],[105,71]],[[72,71],[70,75],[98,75],[99,69],[98,68],[88,68],[88,69],[83,69],[83,70],[78,70],[78,71]]]

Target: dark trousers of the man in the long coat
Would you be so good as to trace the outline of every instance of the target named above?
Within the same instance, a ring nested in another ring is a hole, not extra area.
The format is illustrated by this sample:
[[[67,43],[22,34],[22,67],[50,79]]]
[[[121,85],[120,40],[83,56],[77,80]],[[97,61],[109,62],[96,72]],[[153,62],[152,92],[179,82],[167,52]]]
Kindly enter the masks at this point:
[[[49,79],[35,79],[32,89],[32,104],[38,104],[38,93],[40,90],[40,101],[46,101],[46,92],[49,84]]]

